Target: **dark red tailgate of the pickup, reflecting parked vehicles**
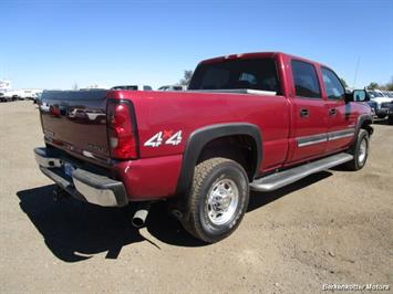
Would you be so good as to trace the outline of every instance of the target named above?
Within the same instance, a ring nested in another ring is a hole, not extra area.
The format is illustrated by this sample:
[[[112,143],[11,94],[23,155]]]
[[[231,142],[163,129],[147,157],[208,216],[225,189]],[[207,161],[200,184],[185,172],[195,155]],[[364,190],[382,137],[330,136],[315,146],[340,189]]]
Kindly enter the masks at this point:
[[[105,90],[44,91],[40,115],[45,141],[90,161],[110,158],[106,94]]]

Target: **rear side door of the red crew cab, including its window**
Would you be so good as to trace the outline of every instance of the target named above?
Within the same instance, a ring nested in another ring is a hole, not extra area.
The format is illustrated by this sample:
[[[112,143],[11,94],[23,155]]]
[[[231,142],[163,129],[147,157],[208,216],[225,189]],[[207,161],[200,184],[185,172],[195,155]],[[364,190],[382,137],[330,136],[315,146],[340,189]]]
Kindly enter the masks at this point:
[[[320,80],[312,63],[291,60],[292,111],[291,155],[293,164],[321,156],[327,148],[327,111]]]

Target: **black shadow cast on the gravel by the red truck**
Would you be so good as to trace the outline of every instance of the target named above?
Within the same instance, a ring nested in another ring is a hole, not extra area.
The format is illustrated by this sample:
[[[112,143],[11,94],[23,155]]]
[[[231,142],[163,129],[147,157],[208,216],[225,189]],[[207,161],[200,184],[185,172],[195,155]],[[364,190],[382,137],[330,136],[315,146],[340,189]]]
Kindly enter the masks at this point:
[[[302,189],[331,176],[322,171],[270,193],[252,192],[248,211],[263,207],[287,193]],[[42,234],[51,252],[64,262],[80,262],[106,252],[106,259],[117,259],[121,250],[132,243],[147,241],[159,250],[159,244],[143,237],[131,224],[135,206],[102,208],[73,198],[53,200],[54,185],[17,193],[20,208]],[[152,207],[146,221],[149,234],[161,242],[177,246],[204,246],[206,243],[190,237],[180,223],[168,216],[164,202]]]

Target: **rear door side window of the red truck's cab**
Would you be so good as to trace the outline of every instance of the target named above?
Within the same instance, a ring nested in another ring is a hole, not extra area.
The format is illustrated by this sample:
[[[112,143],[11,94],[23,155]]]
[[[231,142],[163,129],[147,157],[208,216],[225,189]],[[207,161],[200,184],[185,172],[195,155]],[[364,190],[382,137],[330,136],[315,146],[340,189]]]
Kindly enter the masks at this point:
[[[296,95],[307,98],[321,98],[316,67],[307,62],[291,62]]]

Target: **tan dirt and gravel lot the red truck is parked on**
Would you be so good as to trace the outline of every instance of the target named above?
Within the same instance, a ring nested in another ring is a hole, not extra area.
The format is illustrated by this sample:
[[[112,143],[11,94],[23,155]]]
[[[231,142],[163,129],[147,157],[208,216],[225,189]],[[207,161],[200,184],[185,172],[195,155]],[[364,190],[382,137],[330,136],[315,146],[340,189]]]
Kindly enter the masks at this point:
[[[205,245],[155,207],[52,200],[32,149],[31,102],[0,104],[0,292],[318,293],[323,284],[393,286],[393,126],[375,125],[366,167],[330,170],[252,195],[227,240]]]

